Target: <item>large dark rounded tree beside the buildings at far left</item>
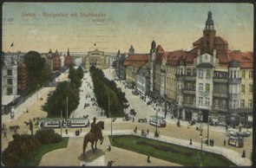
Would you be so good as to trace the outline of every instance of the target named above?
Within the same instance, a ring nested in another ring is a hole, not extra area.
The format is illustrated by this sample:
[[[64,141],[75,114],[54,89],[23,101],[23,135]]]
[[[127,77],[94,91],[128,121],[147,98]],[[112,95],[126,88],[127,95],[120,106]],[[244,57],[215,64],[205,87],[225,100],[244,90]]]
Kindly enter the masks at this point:
[[[45,58],[36,51],[29,51],[24,55],[24,64],[28,69],[28,91],[27,94],[38,89],[50,81],[50,68]]]

